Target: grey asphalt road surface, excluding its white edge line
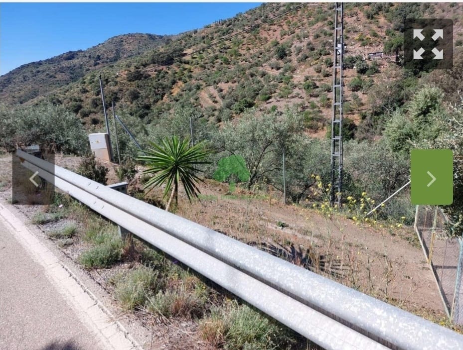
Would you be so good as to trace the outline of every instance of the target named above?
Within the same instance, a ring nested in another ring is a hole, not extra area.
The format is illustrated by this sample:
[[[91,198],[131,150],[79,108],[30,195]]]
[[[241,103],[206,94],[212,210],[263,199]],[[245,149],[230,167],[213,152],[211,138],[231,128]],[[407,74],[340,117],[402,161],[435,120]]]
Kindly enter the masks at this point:
[[[104,350],[9,230],[0,221],[0,349]]]

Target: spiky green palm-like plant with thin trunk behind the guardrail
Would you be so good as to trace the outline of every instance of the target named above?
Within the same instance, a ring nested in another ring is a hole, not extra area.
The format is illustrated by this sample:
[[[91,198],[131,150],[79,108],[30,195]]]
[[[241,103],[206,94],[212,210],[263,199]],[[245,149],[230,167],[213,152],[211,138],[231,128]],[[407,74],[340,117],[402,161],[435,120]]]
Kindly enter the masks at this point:
[[[137,160],[144,161],[149,166],[143,174],[153,175],[145,185],[145,190],[151,190],[153,187],[165,183],[164,199],[170,192],[169,201],[165,208],[169,210],[173,197],[175,203],[178,201],[178,183],[181,182],[185,189],[186,196],[191,202],[191,198],[198,197],[201,193],[196,186],[196,182],[202,181],[196,172],[197,164],[206,164],[204,161],[209,152],[205,149],[204,143],[198,143],[189,146],[188,139],[180,140],[177,136],[164,138],[161,144],[151,142],[152,149],[148,149],[145,155],[137,157]]]

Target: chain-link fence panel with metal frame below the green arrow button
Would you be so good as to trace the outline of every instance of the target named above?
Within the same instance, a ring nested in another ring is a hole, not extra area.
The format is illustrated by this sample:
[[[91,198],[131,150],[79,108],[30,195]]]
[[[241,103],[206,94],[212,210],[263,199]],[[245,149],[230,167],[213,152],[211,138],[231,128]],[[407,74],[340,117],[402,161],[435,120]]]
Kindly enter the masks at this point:
[[[415,231],[433,270],[446,313],[453,323],[463,325],[463,245],[462,239],[446,235],[447,223],[439,207],[417,207]]]

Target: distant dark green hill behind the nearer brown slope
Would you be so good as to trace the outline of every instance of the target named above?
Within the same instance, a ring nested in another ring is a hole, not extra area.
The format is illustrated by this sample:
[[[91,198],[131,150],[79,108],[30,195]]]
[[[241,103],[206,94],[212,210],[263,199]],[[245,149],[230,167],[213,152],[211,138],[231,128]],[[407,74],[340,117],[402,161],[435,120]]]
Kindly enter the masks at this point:
[[[0,77],[0,98],[8,104],[26,103],[73,83],[91,71],[158,47],[166,39],[153,34],[118,35],[87,50],[68,51],[24,64]]]

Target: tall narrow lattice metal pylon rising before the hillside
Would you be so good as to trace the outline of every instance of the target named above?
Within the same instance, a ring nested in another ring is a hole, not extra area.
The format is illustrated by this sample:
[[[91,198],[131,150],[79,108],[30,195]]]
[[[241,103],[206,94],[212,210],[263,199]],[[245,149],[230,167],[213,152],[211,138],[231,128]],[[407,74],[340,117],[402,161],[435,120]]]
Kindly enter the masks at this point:
[[[343,117],[343,4],[334,5],[333,114],[331,118],[331,205],[342,199],[342,117]]]

